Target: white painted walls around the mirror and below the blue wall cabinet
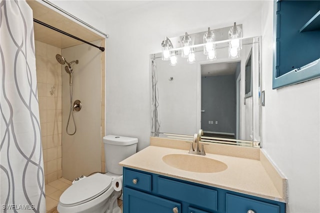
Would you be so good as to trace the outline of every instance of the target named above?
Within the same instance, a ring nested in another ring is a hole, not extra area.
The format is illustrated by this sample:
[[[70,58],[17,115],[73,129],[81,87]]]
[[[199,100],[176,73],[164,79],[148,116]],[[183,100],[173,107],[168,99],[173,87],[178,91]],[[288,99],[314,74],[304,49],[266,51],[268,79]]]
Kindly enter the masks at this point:
[[[262,107],[263,149],[288,178],[287,211],[320,211],[320,79],[272,90],[273,1],[263,2],[262,21],[257,1],[134,1],[131,7],[132,2],[127,1],[100,1],[104,6],[88,2],[92,1],[54,1],[110,34],[106,46],[106,133],[136,136],[138,149],[149,143],[148,55],[160,51],[164,36],[223,27],[233,21],[243,24],[244,36],[253,36],[261,34],[261,25],[262,88],[266,95]],[[129,9],[112,11],[112,3],[128,5]],[[107,11],[88,12],[88,5]],[[255,12],[247,11],[253,7]]]

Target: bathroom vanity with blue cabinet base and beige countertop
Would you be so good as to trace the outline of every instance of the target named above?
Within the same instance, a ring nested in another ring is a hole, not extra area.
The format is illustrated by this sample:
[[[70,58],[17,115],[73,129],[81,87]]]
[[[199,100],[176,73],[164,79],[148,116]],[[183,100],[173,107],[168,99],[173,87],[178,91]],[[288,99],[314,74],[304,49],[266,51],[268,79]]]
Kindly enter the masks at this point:
[[[220,149],[221,145],[207,145],[206,151]],[[187,167],[174,167],[163,160],[168,155],[177,155],[182,159],[176,161],[183,162],[177,165],[194,166],[187,157],[190,155],[185,150],[187,146],[182,149],[159,147],[151,142],[150,146],[120,162],[123,212],[284,213],[286,179],[280,174],[275,178],[276,170],[265,161],[259,149],[246,150],[248,158],[245,158],[239,156],[243,147],[224,145],[224,151],[227,148],[234,149],[229,153],[234,152],[235,156],[215,153],[196,156],[199,160],[202,157],[223,162],[224,170],[205,172],[207,166],[198,161],[200,170],[204,170],[196,172]]]

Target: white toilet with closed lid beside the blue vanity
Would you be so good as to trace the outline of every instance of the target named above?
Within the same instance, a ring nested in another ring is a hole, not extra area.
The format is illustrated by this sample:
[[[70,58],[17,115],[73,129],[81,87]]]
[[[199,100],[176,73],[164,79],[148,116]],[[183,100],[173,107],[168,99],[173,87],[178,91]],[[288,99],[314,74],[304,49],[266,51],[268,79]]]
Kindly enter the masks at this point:
[[[60,196],[57,210],[60,213],[96,212],[120,213],[117,198],[121,191],[112,187],[112,179],[122,175],[118,163],[136,152],[137,138],[106,135],[103,137],[105,170],[74,181]]]

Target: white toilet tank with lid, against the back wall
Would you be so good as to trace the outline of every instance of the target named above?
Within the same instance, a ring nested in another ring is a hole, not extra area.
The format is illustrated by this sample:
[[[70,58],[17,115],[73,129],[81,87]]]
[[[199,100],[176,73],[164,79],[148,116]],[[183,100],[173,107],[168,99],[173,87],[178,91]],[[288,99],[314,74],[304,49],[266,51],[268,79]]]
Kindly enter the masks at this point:
[[[137,138],[117,135],[103,137],[105,171],[114,174],[122,174],[122,166],[119,162],[136,152]]]

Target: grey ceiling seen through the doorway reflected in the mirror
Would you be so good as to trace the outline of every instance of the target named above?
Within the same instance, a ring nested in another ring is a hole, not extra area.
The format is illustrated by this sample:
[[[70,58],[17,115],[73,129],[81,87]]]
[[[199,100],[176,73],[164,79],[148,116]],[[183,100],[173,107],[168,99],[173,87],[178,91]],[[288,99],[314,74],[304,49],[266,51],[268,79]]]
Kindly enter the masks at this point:
[[[234,74],[239,62],[209,63],[201,65],[201,76]]]

